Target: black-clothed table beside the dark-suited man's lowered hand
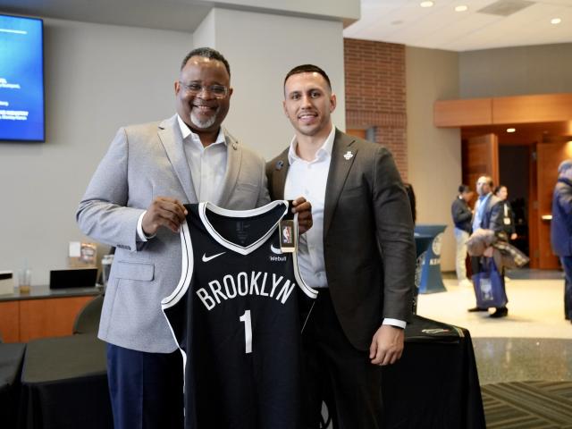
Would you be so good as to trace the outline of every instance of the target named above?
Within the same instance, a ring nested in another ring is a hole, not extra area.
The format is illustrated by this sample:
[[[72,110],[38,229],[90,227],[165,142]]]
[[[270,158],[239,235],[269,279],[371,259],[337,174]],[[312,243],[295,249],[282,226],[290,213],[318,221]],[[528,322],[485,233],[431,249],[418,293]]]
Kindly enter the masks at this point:
[[[483,400],[466,329],[414,315],[401,359],[383,367],[385,429],[481,429]]]

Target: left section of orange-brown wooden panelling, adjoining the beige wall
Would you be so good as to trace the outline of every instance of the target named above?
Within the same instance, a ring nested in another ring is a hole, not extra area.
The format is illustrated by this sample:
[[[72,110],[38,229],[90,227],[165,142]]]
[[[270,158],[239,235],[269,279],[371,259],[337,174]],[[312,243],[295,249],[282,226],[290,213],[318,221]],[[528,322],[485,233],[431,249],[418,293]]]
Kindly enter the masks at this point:
[[[492,124],[492,98],[441,100],[433,105],[435,127]]]

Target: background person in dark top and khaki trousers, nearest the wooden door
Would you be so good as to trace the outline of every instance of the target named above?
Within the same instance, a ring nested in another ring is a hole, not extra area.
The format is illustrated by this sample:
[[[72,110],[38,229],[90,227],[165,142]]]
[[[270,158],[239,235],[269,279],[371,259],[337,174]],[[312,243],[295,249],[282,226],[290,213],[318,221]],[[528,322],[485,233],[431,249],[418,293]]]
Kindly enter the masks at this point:
[[[455,271],[457,272],[458,285],[471,287],[472,283],[467,279],[467,240],[471,234],[473,212],[468,206],[473,198],[473,191],[467,185],[459,185],[458,196],[450,207],[450,214],[455,223],[455,240],[457,241],[457,257],[455,260]]]

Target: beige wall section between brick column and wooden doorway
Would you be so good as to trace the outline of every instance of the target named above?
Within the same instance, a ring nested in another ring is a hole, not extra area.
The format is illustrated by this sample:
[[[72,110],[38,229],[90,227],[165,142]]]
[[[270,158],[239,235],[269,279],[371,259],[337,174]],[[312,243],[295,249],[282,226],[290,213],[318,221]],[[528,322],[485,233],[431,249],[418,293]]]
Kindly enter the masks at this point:
[[[458,97],[458,54],[407,46],[408,181],[416,193],[417,223],[446,224],[442,270],[455,269],[450,205],[461,182],[458,129],[433,126],[433,103]]]

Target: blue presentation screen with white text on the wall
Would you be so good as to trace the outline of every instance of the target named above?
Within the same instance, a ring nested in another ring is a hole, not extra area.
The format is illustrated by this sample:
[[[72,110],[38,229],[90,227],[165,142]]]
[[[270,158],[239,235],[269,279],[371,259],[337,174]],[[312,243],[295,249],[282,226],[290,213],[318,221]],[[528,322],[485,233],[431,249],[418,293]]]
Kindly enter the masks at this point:
[[[45,140],[42,23],[0,15],[0,140]]]

